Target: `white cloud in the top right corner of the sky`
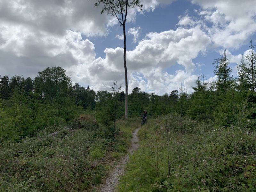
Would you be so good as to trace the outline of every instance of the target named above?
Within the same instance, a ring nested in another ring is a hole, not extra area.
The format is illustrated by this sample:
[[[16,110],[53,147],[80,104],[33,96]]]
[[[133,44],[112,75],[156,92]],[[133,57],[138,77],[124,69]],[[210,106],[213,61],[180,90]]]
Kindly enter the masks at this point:
[[[256,5],[254,0],[191,0],[202,10],[197,11],[204,21],[205,29],[216,47],[237,49],[256,30]],[[236,10],[236,11],[234,11]]]

